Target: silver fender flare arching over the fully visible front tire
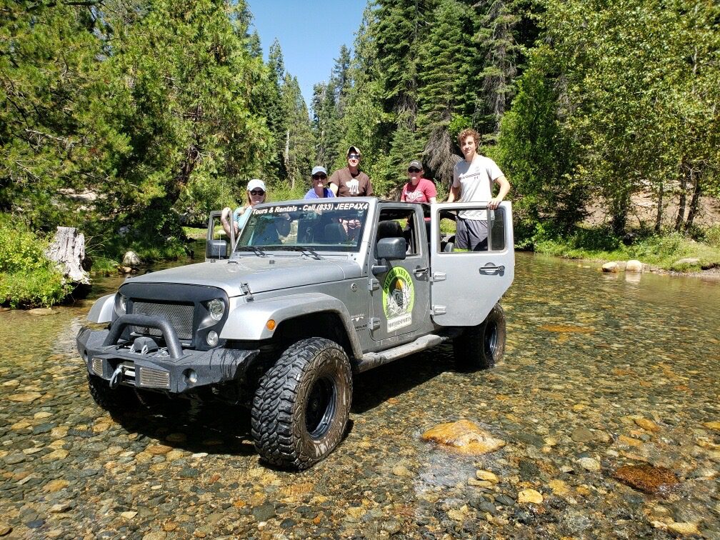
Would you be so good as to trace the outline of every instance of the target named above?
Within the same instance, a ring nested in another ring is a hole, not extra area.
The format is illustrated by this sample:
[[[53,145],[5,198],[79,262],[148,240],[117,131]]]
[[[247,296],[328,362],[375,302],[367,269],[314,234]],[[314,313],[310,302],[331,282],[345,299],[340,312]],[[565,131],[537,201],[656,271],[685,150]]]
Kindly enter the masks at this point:
[[[312,312],[336,313],[343,322],[345,333],[353,349],[352,354],[357,358],[362,356],[362,347],[352,325],[348,308],[336,297],[319,292],[289,294],[280,298],[252,300],[240,304],[228,314],[220,338],[242,341],[269,339],[274,333],[266,327],[269,319],[275,321],[277,328],[284,320]]]

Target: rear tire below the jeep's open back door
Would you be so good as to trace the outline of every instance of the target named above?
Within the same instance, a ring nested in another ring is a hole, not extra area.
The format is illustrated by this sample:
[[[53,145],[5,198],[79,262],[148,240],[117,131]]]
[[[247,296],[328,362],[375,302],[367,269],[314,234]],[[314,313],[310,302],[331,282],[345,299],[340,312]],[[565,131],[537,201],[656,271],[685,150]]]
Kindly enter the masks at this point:
[[[495,304],[484,321],[454,338],[453,352],[460,369],[488,369],[505,354],[505,312]]]

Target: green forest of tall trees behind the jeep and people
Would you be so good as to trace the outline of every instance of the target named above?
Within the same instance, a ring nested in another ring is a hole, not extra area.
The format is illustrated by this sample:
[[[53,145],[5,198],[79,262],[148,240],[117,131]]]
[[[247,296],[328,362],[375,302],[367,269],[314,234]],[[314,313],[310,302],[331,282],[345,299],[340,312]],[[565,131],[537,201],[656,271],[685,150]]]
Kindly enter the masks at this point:
[[[0,0],[0,303],[65,293],[18,300],[27,269],[55,283],[21,238],[64,225],[97,261],[181,256],[182,225],[248,179],[302,197],[349,145],[376,194],[418,158],[443,200],[465,127],[513,185],[518,247],[720,248],[697,223],[720,195],[716,0],[371,0],[310,103],[251,29],[245,0]]]

